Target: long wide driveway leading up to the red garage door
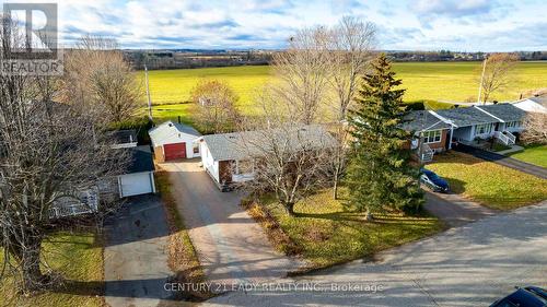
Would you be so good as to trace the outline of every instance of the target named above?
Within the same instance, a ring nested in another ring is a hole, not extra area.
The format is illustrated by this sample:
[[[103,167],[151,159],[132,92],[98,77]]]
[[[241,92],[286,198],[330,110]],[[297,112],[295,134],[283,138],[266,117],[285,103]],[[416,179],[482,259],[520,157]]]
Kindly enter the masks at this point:
[[[260,225],[221,192],[199,161],[164,163],[189,236],[209,282],[232,286],[283,278],[300,263],[274,250]],[[214,290],[214,288],[213,288]]]

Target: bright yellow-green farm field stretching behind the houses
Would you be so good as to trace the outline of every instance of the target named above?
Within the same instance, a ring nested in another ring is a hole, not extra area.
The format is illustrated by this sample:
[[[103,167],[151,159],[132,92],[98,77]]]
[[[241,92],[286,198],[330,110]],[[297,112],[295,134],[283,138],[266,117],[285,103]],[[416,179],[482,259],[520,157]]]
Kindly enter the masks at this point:
[[[395,62],[397,76],[407,88],[405,101],[454,101],[475,99],[477,95],[480,62]],[[143,78],[143,72],[138,72]],[[270,68],[229,67],[205,69],[179,69],[150,71],[150,92],[158,110],[156,118],[176,118],[190,122],[190,105],[178,105],[189,99],[191,88],[201,79],[219,79],[228,82],[238,94],[240,109],[253,113],[253,97],[270,80]],[[507,91],[496,93],[494,99],[517,99],[521,93],[547,87],[547,62],[521,62],[515,81]],[[439,107],[432,105],[433,108]]]

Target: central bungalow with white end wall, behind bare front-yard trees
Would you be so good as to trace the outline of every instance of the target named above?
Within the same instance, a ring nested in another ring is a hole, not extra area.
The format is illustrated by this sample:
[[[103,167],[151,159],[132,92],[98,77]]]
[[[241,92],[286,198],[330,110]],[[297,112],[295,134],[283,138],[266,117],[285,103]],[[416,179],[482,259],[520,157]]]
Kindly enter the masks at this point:
[[[336,140],[318,125],[303,126],[295,129],[274,130],[271,133],[280,141],[298,147],[296,140],[305,139],[309,144],[317,146],[333,145]],[[254,179],[255,163],[260,157],[260,150],[253,147],[245,140],[260,140],[263,131],[244,131],[233,133],[209,134],[199,138],[202,167],[221,190],[228,190],[233,184]]]

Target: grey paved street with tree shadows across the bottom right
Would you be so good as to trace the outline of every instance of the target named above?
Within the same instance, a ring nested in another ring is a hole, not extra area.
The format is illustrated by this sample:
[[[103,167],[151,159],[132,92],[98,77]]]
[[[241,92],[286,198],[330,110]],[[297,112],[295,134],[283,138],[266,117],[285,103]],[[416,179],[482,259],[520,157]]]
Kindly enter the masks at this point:
[[[354,261],[283,281],[299,282],[298,292],[232,292],[207,305],[489,306],[514,285],[547,286],[546,246],[544,202],[382,252],[377,262]],[[305,283],[315,291],[302,291]],[[333,291],[333,284],[360,288]],[[368,291],[374,285],[383,291]]]

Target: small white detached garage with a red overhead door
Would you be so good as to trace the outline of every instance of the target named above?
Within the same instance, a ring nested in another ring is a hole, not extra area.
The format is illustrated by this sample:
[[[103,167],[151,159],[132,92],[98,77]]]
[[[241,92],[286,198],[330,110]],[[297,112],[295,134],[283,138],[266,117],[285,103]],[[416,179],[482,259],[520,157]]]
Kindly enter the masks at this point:
[[[199,144],[196,140],[201,134],[189,126],[168,120],[148,133],[158,162],[200,156]]]

